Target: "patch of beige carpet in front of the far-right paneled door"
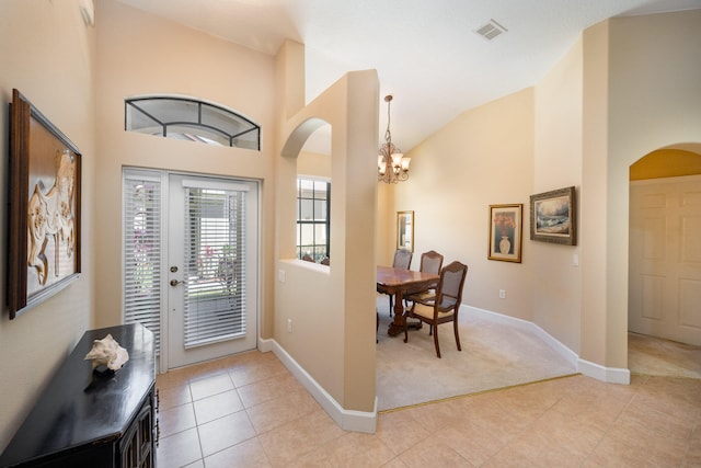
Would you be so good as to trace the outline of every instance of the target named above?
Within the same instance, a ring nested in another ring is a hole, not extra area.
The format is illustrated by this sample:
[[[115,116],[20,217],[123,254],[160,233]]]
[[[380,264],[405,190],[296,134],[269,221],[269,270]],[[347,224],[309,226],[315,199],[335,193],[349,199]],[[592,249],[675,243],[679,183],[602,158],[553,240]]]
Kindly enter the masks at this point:
[[[628,367],[633,374],[701,378],[701,347],[629,332]]]

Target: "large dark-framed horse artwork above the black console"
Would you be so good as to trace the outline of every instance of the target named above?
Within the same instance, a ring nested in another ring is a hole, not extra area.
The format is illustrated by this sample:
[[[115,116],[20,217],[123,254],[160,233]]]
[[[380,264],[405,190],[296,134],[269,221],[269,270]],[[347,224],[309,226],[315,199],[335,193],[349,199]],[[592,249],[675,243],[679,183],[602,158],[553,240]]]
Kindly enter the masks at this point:
[[[81,155],[18,90],[10,106],[10,319],[80,274]]]

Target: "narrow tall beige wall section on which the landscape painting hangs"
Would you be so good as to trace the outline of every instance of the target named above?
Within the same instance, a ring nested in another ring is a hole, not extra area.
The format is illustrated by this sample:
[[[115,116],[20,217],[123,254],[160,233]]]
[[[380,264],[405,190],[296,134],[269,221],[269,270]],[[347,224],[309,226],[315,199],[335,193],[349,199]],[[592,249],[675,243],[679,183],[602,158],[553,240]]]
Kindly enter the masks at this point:
[[[582,52],[579,39],[536,87],[533,193],[574,185],[576,195],[581,194]],[[579,248],[530,241],[530,222],[524,228],[532,253],[528,264],[538,278],[533,282],[533,321],[578,353],[582,278],[575,263]]]

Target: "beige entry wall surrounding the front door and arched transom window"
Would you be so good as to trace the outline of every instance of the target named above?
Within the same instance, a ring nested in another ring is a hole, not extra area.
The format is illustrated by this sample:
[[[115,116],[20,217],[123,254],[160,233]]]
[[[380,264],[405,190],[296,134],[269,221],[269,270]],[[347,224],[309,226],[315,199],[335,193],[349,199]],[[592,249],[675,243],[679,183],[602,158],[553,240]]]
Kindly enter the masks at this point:
[[[262,182],[261,334],[273,313],[274,58],[180,26],[119,2],[97,3],[96,310],[97,326],[120,323],[122,168],[170,169]],[[108,20],[107,20],[108,19]],[[126,33],[125,33],[126,32]],[[124,130],[124,100],[149,93],[215,102],[262,127],[261,151],[214,147]]]

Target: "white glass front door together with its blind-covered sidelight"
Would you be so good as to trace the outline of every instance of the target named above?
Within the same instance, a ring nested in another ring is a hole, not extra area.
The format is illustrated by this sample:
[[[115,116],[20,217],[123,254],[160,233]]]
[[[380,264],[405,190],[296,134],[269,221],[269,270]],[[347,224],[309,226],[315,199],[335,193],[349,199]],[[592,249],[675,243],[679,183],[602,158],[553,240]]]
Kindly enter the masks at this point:
[[[125,170],[124,192],[125,322],[158,330],[161,369],[255,349],[257,184]]]

